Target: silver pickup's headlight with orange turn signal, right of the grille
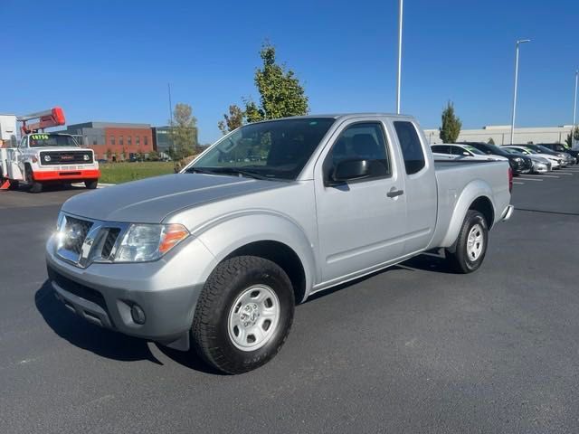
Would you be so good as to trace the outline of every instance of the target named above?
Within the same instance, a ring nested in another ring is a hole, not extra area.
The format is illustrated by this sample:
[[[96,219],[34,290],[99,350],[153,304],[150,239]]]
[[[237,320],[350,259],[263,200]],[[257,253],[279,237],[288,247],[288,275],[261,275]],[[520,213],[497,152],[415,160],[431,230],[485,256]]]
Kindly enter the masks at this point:
[[[161,258],[189,236],[181,224],[131,224],[120,242],[115,262],[142,262]]]

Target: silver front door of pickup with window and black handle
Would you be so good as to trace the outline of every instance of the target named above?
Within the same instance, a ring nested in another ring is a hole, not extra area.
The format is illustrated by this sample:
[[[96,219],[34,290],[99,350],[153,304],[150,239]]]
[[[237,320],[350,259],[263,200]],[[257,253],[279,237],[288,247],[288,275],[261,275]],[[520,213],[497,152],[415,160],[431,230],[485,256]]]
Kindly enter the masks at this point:
[[[319,255],[324,283],[356,277],[403,255],[404,177],[386,129],[375,119],[346,123],[316,167]],[[368,160],[362,179],[328,182],[341,161]]]

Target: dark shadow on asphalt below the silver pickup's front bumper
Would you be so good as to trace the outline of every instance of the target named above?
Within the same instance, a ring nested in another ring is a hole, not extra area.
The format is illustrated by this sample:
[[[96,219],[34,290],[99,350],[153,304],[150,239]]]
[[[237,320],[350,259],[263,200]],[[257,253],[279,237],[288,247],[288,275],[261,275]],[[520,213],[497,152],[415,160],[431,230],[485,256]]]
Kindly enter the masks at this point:
[[[80,316],[73,314],[54,297],[48,280],[36,291],[34,304],[44,321],[52,330],[71,344],[91,353],[98,354],[120,362],[148,360],[151,363],[164,364],[151,353],[147,341],[90,324]],[[176,363],[204,373],[215,373],[209,366],[189,350],[181,352],[157,344],[159,351]]]

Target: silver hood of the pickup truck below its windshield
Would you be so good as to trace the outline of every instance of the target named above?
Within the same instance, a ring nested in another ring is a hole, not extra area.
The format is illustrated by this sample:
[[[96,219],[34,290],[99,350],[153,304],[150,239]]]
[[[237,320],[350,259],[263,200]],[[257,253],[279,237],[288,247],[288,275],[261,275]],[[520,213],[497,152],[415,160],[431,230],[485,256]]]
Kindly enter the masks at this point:
[[[201,203],[282,188],[288,183],[226,175],[163,175],[72,197],[62,211],[105,222],[159,223]]]

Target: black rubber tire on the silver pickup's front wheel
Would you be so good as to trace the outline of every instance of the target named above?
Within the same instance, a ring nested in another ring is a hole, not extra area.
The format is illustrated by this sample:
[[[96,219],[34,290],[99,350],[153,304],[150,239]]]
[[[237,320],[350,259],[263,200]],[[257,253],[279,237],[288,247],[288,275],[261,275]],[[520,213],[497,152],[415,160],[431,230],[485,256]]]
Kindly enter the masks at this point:
[[[255,285],[266,286],[277,296],[277,326],[271,331],[265,329],[265,333],[270,335],[261,347],[242,350],[233,342],[229,320],[243,310],[241,302],[233,306],[238,297],[247,294],[248,289]],[[274,262],[253,256],[226,259],[207,279],[197,301],[191,328],[195,350],[206,363],[223,373],[252,371],[269,362],[280,351],[293,321],[294,305],[288,275]]]

